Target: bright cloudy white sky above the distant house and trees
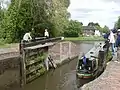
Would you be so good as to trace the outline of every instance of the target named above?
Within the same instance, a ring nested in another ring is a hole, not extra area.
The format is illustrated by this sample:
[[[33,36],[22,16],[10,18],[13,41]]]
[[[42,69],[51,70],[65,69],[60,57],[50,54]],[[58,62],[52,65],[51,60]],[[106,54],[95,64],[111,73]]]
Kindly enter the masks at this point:
[[[68,11],[71,19],[83,22],[99,23],[102,27],[107,25],[114,27],[114,23],[120,16],[120,0],[70,0]]]

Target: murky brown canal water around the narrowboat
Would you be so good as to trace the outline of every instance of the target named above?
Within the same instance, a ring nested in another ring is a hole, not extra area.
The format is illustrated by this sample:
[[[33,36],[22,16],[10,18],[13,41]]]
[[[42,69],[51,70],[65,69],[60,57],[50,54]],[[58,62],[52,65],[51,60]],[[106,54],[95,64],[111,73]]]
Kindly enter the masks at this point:
[[[94,45],[94,43],[85,42],[77,44],[80,46],[81,55],[88,52]],[[55,70],[51,70],[25,85],[22,90],[80,90],[76,83],[76,63],[77,59],[74,59]],[[80,80],[81,85],[85,83],[87,82]]]

